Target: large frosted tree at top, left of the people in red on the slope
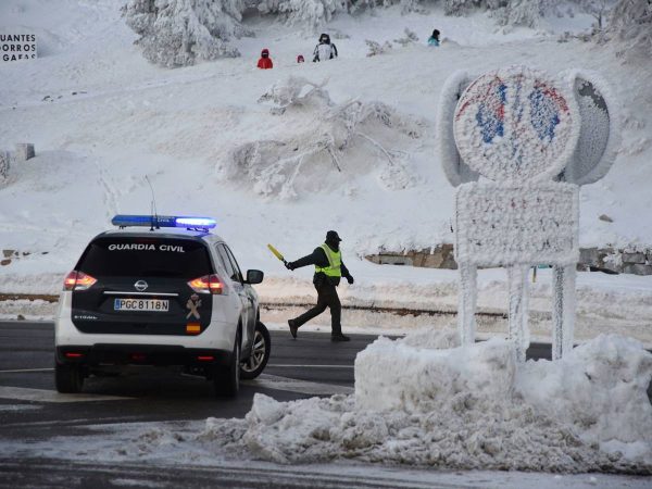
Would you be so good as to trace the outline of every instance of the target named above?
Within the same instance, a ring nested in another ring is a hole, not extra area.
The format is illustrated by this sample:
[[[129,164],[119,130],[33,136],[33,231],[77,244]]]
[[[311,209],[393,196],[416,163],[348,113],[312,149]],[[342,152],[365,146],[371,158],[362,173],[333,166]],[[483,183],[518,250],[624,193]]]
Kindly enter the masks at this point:
[[[227,42],[249,34],[240,24],[243,9],[242,0],[129,0],[123,14],[145,58],[176,67],[239,57]]]

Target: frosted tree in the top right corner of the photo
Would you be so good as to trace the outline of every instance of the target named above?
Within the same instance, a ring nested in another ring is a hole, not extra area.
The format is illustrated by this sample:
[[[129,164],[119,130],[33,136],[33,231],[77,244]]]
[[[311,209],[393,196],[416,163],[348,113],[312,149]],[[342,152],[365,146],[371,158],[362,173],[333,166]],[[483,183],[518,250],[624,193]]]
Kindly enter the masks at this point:
[[[618,1],[607,24],[607,33],[620,42],[623,51],[652,55],[652,0]]]

